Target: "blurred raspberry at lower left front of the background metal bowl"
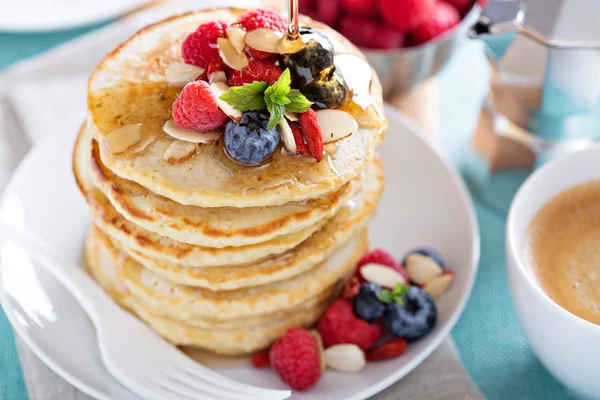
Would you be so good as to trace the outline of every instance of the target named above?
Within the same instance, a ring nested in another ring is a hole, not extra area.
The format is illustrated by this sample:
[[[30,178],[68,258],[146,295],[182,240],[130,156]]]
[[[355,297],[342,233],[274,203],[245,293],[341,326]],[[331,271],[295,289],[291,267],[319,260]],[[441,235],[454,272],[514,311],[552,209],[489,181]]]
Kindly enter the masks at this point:
[[[360,47],[371,49],[404,47],[404,34],[402,32],[360,17],[344,17],[340,22],[340,33]]]

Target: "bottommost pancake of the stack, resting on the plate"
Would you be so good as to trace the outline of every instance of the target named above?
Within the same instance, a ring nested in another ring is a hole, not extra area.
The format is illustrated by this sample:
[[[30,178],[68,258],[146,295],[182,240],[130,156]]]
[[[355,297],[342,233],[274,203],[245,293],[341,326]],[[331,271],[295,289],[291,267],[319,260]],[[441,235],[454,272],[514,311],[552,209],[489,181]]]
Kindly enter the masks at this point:
[[[312,326],[332,300],[328,299],[315,304],[314,307],[290,312],[261,326],[248,327],[241,320],[237,321],[237,326],[232,329],[204,329],[149,311],[135,297],[122,290],[123,283],[119,282],[116,271],[109,272],[113,274],[111,277],[106,275],[106,265],[96,263],[93,259],[88,263],[92,275],[108,295],[121,307],[145,321],[159,335],[175,345],[201,348],[223,355],[243,355],[263,350],[279,339],[289,328]]]

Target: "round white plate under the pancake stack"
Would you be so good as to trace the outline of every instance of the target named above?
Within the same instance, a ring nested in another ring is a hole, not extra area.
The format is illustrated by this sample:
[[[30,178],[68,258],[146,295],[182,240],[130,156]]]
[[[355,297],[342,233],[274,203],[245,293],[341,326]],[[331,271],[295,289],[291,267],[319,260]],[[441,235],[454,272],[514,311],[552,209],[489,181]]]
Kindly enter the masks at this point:
[[[436,248],[456,271],[456,281],[438,300],[438,323],[425,339],[396,359],[370,363],[360,374],[326,371],[319,383],[293,399],[358,400],[408,374],[454,326],[469,297],[479,259],[479,232],[465,186],[454,170],[419,136],[419,128],[386,110],[389,131],[381,148],[385,192],[370,227],[371,245],[400,258],[411,247]],[[90,216],[71,175],[76,126],[45,137],[27,156],[9,185],[0,212],[30,229],[74,262]],[[128,394],[102,366],[94,328],[70,294],[10,243],[2,248],[2,305],[27,345],[67,381],[99,399]],[[152,351],[148,349],[148,351]],[[246,363],[221,366],[225,375],[283,388],[271,370]]]

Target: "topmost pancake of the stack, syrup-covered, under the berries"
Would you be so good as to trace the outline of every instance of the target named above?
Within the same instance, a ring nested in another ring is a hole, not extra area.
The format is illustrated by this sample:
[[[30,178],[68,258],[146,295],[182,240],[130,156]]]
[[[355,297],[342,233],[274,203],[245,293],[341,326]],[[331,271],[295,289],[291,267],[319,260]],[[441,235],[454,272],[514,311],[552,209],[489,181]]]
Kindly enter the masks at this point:
[[[385,133],[385,119],[377,111],[362,113],[359,118],[355,107],[344,106],[357,120],[367,123],[350,137],[327,144],[319,163],[276,150],[269,162],[260,167],[243,166],[225,154],[222,140],[216,145],[199,145],[196,154],[185,162],[170,164],[163,160],[173,139],[163,132],[162,126],[170,119],[171,104],[179,91],[166,82],[165,69],[182,62],[180,45],[200,23],[216,19],[234,22],[243,12],[205,10],[169,18],[139,31],[100,63],[88,87],[88,126],[94,137],[104,143],[105,136],[116,128],[141,123],[142,142],[148,143],[135,153],[113,154],[106,146],[100,146],[104,165],[116,175],[180,204],[243,208],[277,206],[329,195],[358,176],[373,160]],[[301,23],[335,38],[336,51],[363,57],[355,46],[325,25],[308,18]],[[358,58],[355,61],[363,62]],[[348,71],[353,71],[352,66]],[[350,77],[346,78],[349,81]],[[367,89],[362,97],[368,99],[363,103],[365,109],[380,109],[381,86],[375,74],[363,84]]]

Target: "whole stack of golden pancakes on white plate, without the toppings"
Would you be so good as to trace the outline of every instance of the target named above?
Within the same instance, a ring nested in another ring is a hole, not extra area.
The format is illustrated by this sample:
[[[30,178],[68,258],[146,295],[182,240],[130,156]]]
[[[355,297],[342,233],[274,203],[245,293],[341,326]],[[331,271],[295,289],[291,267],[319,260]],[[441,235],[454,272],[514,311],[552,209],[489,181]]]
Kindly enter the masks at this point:
[[[198,144],[176,162],[163,157],[175,139],[162,126],[180,90],[165,69],[182,62],[181,42],[199,24],[244,11],[174,17],[109,54],[90,79],[73,155],[94,221],[85,246],[94,278],[169,341],[219,354],[263,349],[318,320],[367,248],[383,188],[375,149],[385,121],[376,113],[326,145],[320,163],[277,151],[267,164],[244,166],[222,143]],[[331,35],[337,51],[359,54],[328,28],[303,23]],[[370,90],[380,105],[376,79]],[[111,152],[106,137],[129,124],[141,124],[139,141]]]

